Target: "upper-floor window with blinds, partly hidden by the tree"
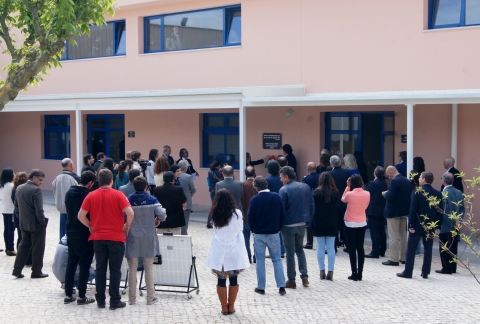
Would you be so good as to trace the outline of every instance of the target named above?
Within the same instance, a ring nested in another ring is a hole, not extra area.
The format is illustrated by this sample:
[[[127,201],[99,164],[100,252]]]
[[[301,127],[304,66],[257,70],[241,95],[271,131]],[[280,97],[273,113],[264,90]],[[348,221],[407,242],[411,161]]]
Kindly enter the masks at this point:
[[[74,36],[67,41],[63,60],[76,60],[93,57],[125,55],[125,21],[109,22],[104,26],[90,26],[90,36]]]

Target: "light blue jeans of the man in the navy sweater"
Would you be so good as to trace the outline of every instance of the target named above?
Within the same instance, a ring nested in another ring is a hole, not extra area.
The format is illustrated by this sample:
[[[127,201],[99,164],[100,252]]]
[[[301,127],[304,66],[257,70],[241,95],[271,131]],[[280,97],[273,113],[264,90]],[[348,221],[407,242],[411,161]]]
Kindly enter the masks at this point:
[[[255,257],[257,258],[257,288],[265,290],[265,248],[268,247],[268,253],[273,263],[275,282],[277,287],[285,287],[285,275],[283,274],[283,264],[280,257],[280,238],[277,234],[255,234],[253,236]]]

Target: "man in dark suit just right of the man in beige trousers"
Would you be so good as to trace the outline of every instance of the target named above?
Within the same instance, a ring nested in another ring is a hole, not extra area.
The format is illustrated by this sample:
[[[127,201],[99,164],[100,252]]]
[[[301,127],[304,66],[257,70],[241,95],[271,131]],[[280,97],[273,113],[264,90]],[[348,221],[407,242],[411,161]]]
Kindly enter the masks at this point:
[[[422,172],[420,175],[420,185],[422,192],[415,192],[412,197],[412,204],[410,206],[410,214],[408,216],[408,249],[405,270],[397,273],[400,278],[412,278],[413,265],[415,262],[415,251],[417,250],[418,242],[423,241],[423,265],[422,274],[423,279],[427,279],[432,267],[432,248],[433,248],[433,232],[440,233],[442,224],[442,213],[436,206],[430,206],[427,197],[435,197],[440,201],[438,206],[440,210],[443,209],[442,193],[432,188],[433,174],[431,172]],[[427,232],[424,226],[430,223],[437,222],[435,230]],[[427,237],[428,236],[428,237]]]

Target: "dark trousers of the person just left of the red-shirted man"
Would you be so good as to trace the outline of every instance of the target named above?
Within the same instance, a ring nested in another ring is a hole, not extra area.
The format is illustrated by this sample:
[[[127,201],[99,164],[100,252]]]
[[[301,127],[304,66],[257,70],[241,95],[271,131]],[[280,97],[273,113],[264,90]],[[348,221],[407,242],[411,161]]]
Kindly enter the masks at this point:
[[[73,236],[73,235],[72,235]],[[75,271],[77,266],[80,268],[78,274],[78,296],[85,298],[87,292],[88,277],[90,277],[90,267],[93,260],[93,243],[88,242],[88,237],[68,238],[68,263],[65,271],[65,294],[72,296],[72,290],[75,280]]]

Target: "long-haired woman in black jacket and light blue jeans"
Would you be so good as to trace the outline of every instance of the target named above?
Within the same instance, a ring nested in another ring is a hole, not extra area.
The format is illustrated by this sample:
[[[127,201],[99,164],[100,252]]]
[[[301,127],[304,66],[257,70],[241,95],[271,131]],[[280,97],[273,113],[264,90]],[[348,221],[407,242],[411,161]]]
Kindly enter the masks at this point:
[[[312,218],[312,233],[317,240],[317,260],[320,280],[333,280],[335,266],[335,237],[338,233],[337,205],[340,193],[330,172],[322,172],[318,187],[313,191],[315,214]],[[325,275],[325,248],[328,255],[328,274]]]

